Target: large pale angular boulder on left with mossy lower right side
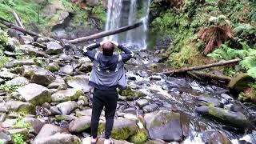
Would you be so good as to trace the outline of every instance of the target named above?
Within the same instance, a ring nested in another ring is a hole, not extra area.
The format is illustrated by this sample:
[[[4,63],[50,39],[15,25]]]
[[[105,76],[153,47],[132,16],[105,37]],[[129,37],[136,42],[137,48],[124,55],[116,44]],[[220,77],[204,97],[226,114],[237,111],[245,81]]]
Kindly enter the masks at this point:
[[[30,102],[35,106],[42,105],[44,102],[51,102],[50,91],[46,87],[35,83],[22,86],[17,91],[22,98],[25,98],[26,102]]]

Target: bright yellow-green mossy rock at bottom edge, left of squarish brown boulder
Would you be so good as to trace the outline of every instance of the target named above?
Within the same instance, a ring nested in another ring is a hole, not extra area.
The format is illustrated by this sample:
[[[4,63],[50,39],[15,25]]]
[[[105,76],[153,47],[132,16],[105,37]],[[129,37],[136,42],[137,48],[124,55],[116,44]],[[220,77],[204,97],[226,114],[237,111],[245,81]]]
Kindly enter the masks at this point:
[[[150,136],[146,130],[139,130],[137,134],[135,134],[129,138],[129,142],[133,142],[135,144],[143,144],[149,138],[150,138]]]

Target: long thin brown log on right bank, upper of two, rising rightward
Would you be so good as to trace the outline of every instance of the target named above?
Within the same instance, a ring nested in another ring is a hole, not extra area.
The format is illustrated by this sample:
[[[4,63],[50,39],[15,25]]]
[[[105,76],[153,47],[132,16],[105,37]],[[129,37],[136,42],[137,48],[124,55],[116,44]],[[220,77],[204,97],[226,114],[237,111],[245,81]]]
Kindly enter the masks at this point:
[[[208,64],[208,65],[203,65],[203,66],[185,67],[185,68],[181,68],[181,69],[178,69],[178,70],[166,71],[166,72],[163,72],[162,74],[166,74],[166,75],[181,74],[181,73],[185,73],[185,72],[193,71],[193,70],[202,70],[202,69],[206,69],[206,68],[210,68],[210,67],[230,65],[230,64],[233,64],[233,63],[240,62],[241,60],[242,59],[238,58],[238,59],[232,59],[232,60],[229,60],[229,61],[215,62],[215,63],[211,63],[211,64]]]

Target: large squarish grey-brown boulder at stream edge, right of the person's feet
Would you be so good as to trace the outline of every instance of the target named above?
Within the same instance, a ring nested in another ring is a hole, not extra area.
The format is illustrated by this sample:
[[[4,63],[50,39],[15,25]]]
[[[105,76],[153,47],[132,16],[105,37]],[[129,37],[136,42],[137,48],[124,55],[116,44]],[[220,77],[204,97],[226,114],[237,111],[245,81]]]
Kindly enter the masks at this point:
[[[162,139],[166,142],[182,140],[183,134],[179,113],[160,110],[145,114],[144,118],[150,139]]]

